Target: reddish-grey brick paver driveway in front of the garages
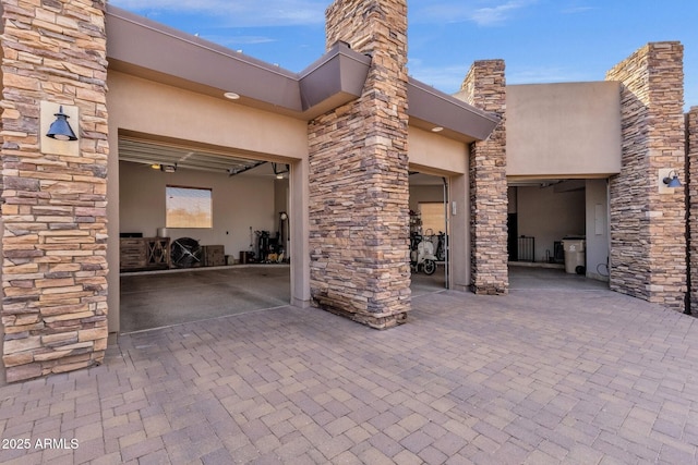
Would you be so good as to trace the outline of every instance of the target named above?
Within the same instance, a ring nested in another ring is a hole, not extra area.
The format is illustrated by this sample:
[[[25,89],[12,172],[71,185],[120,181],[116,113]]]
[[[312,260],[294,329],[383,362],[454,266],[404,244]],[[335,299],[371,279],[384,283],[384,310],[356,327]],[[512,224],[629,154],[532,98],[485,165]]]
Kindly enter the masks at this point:
[[[604,290],[422,295],[388,331],[282,307],[122,336],[0,402],[22,465],[693,464],[698,325]]]

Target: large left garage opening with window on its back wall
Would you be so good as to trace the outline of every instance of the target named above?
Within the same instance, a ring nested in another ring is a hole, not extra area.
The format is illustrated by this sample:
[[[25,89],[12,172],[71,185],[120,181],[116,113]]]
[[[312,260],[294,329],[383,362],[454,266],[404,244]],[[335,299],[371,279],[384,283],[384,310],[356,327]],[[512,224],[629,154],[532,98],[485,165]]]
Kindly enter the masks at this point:
[[[290,166],[119,138],[120,332],[290,303]]]

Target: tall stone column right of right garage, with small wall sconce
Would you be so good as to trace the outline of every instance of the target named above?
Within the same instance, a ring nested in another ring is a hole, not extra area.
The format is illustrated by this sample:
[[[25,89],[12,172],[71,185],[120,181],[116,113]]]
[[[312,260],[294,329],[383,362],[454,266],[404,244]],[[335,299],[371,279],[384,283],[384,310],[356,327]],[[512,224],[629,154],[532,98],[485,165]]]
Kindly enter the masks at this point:
[[[610,285],[684,308],[684,187],[660,192],[662,170],[684,176],[683,46],[648,44],[606,73],[623,84],[622,168],[611,178]]]

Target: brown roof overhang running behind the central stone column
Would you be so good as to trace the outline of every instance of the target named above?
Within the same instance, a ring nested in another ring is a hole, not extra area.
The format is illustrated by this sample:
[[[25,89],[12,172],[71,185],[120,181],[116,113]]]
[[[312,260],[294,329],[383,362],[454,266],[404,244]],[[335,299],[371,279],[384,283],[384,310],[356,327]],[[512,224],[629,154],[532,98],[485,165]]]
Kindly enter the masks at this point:
[[[109,70],[196,91],[215,98],[240,96],[238,105],[310,121],[359,98],[371,57],[337,42],[301,73],[149,21],[107,4]],[[462,142],[486,138],[498,123],[494,114],[408,82],[410,124]]]

